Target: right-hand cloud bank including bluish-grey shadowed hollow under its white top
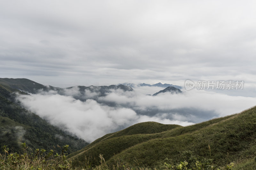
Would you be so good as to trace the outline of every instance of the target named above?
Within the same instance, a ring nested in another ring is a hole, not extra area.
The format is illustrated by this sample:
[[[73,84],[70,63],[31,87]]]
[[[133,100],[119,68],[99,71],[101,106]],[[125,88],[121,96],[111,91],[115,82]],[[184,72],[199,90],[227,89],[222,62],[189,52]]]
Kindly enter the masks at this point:
[[[254,97],[230,96],[203,90],[192,90],[181,94],[160,93],[157,96],[145,95],[145,89],[157,87],[137,87],[133,92],[115,91],[100,97],[100,101],[114,102],[122,107],[130,107],[142,115],[168,113],[185,116],[189,122],[202,122],[241,112],[255,105]],[[143,93],[141,93],[143,92]],[[127,94],[129,93],[129,94]]]

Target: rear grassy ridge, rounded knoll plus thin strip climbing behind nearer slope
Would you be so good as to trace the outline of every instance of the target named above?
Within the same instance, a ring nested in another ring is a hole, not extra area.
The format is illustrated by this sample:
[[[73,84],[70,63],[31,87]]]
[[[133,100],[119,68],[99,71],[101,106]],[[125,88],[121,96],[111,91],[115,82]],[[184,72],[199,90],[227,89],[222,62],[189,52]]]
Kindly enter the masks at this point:
[[[143,122],[135,124],[129,128],[118,131],[116,133],[107,134],[91,144],[87,145],[80,151],[74,152],[70,155],[71,160],[75,160],[75,164],[77,164],[77,160],[82,162],[85,156],[95,158],[96,161],[99,161],[99,154],[103,154],[105,160],[110,159],[114,153],[117,154],[119,152],[124,151],[125,149],[137,145],[139,143],[149,141],[150,139],[161,139],[170,136],[179,136],[182,134],[186,134],[189,132],[196,131],[198,129],[202,129],[211,124],[226,120],[231,116],[222,117],[218,119],[212,119],[207,122],[198,123],[192,126],[182,127],[179,125],[164,125],[156,122]],[[157,133],[158,132],[158,133]],[[142,134],[140,134],[142,133]],[[143,134],[148,133],[148,134]],[[128,135],[126,135],[128,134]],[[134,135],[130,135],[134,134]],[[138,140],[140,138],[140,140]],[[96,163],[95,160],[92,163]]]

